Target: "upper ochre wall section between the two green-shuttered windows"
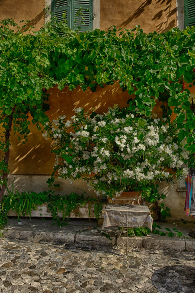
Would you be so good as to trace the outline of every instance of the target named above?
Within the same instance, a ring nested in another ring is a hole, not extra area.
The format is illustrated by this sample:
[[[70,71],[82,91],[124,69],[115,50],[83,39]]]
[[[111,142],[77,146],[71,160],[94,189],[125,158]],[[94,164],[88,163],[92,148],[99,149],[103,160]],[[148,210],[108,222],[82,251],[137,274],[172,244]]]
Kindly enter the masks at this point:
[[[100,0],[100,29],[134,28],[158,33],[177,27],[176,0]]]

